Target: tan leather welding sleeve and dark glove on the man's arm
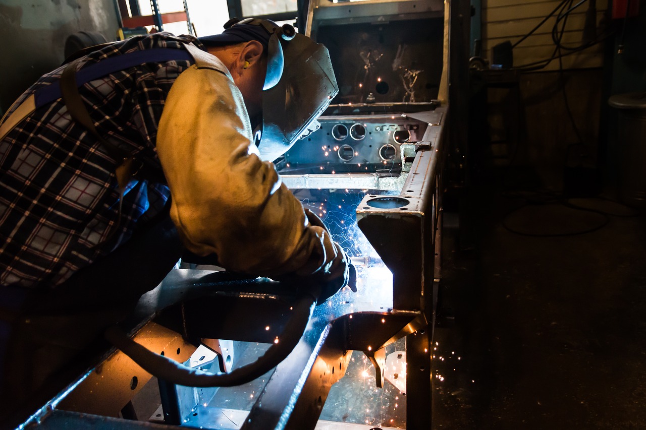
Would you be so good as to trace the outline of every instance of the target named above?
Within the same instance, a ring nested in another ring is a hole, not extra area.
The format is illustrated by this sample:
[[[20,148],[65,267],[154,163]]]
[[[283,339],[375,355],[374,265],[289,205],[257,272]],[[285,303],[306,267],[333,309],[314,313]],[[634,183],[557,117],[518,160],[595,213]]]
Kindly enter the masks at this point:
[[[227,271],[345,285],[347,256],[318,218],[311,222],[313,214],[308,218],[274,165],[260,160],[242,94],[228,74],[193,66],[178,77],[160,119],[157,152],[171,218],[189,251],[216,254]]]

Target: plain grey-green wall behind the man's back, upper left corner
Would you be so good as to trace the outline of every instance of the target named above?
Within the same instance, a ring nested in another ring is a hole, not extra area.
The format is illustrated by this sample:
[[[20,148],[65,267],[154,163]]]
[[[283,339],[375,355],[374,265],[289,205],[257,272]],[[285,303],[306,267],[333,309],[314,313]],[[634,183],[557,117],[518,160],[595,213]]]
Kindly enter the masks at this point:
[[[70,34],[99,32],[114,40],[117,27],[112,0],[0,0],[0,114],[61,64]]]

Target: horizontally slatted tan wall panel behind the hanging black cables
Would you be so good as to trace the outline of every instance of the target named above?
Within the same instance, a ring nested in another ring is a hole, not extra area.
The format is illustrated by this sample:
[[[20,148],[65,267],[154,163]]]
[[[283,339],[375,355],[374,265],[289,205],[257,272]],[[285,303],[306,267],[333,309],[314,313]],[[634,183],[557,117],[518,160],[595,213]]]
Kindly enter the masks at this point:
[[[485,0],[483,3],[483,48],[491,56],[491,48],[504,41],[516,43],[534,26],[554,10],[558,0]],[[576,4],[576,2],[574,3]],[[603,19],[608,0],[597,1],[597,26]],[[562,45],[578,46],[583,39],[583,27],[588,3],[573,10],[567,18]],[[552,27],[556,17],[550,17],[532,36],[514,48],[514,66],[538,63],[554,55],[556,46],[552,41]],[[562,50],[562,54],[569,53]],[[564,68],[590,68],[603,65],[603,48],[595,45],[587,50],[563,57]],[[559,63],[554,59],[543,70],[557,70]]]

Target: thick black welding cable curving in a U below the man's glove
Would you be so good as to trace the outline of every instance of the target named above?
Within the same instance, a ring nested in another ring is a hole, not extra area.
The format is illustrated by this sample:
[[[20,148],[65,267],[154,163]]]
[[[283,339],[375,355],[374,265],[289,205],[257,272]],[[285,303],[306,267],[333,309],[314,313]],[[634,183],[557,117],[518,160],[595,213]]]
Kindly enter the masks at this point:
[[[304,294],[298,298],[293,306],[294,313],[289,318],[285,331],[279,337],[280,342],[273,343],[255,362],[234,369],[230,373],[213,374],[186,367],[134,342],[116,326],[109,327],[105,331],[105,338],[145,371],[171,384],[187,387],[233,387],[259,378],[282,362],[303,335],[315,305],[316,299],[310,294]]]

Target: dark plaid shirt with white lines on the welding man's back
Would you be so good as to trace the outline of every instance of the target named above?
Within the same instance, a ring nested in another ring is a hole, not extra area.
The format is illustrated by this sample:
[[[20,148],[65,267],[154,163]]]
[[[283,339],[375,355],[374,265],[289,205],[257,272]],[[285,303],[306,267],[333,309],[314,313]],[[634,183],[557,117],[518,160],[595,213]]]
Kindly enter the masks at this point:
[[[90,53],[80,67],[163,47],[182,48],[182,43],[163,33],[132,37]],[[160,167],[158,122],[172,83],[189,65],[147,63],[85,83],[79,92],[99,134]],[[41,77],[15,106],[59,79],[62,71]],[[61,99],[37,108],[0,141],[1,285],[58,285],[116,249],[138,224],[163,209],[170,196],[166,185],[132,181],[119,216],[115,167],[106,148],[72,121]]]

